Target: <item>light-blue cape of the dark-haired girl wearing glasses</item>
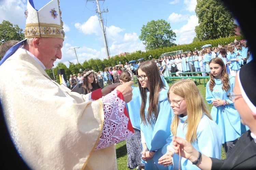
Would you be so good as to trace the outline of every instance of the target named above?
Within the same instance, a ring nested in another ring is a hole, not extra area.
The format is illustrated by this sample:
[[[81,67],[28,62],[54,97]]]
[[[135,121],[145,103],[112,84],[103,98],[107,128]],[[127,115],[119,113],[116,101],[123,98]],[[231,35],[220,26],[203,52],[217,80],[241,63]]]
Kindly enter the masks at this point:
[[[173,117],[173,110],[167,100],[168,88],[165,89],[166,90],[159,92],[158,117],[156,122],[150,122],[151,125],[149,123],[147,123],[147,125],[143,123],[140,124],[140,128],[144,134],[148,151],[157,150],[154,157],[148,162],[145,162],[145,169],[147,170],[168,169],[168,167],[164,167],[163,165],[158,164],[158,159],[163,156],[161,152],[162,147],[165,146],[166,139],[171,134],[170,125],[171,119]],[[147,114],[149,95],[150,92],[147,92],[145,114]]]

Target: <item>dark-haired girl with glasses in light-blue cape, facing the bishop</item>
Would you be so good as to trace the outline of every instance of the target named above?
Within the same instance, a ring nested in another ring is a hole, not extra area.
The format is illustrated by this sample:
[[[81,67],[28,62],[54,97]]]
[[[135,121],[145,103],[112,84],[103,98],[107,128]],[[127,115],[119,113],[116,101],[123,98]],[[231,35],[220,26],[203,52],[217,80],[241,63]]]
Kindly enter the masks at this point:
[[[163,84],[154,61],[141,63],[136,70],[141,95],[141,143],[145,169],[168,169],[158,164],[162,147],[170,135],[173,111],[167,100],[168,88]]]

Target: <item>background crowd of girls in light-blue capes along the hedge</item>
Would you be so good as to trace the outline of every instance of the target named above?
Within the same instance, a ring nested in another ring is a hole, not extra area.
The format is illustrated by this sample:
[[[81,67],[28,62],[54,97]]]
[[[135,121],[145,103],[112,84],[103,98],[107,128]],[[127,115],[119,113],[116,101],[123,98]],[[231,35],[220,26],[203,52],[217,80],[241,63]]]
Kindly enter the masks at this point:
[[[252,59],[250,49],[243,41],[236,41],[234,45],[207,47],[200,51],[193,51],[188,53],[180,53],[176,55],[170,55],[168,57],[163,56],[166,66],[170,73],[177,71],[181,72],[206,72],[201,73],[202,76],[209,75],[210,68],[209,62],[212,58],[222,58],[224,64],[227,67],[227,72],[232,76],[235,76],[237,71]],[[195,74],[194,74],[195,75]],[[199,76],[199,74],[198,74]],[[164,75],[164,77],[168,77]]]

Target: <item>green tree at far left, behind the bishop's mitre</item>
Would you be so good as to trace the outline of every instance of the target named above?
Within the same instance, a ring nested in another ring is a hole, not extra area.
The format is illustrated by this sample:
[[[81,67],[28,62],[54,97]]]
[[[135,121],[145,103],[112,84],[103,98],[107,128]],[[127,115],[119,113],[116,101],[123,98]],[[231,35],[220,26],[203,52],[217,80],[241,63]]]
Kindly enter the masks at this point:
[[[0,23],[0,45],[9,40],[23,40],[25,35],[22,32],[23,29],[19,28],[18,25],[13,27],[11,22],[3,20]]]

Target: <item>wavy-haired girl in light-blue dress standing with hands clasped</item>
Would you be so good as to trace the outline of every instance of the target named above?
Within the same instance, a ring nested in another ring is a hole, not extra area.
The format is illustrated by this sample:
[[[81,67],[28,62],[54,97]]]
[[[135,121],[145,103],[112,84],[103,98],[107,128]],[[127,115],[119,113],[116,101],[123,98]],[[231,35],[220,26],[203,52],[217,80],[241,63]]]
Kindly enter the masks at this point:
[[[209,66],[210,81],[206,85],[205,98],[213,105],[211,116],[223,133],[222,144],[227,156],[246,128],[241,124],[233,101],[227,97],[228,92],[233,89],[234,77],[226,72],[226,66],[221,58],[213,58]]]

